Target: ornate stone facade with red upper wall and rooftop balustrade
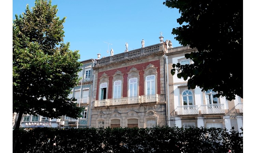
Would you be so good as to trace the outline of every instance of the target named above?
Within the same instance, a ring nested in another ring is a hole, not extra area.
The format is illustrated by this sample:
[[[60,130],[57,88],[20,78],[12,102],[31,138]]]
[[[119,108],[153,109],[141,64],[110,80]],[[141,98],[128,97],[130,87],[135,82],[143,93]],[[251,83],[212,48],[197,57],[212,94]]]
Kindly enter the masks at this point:
[[[97,60],[90,127],[166,125],[165,52],[165,45],[157,44]],[[145,90],[150,83],[152,92]]]

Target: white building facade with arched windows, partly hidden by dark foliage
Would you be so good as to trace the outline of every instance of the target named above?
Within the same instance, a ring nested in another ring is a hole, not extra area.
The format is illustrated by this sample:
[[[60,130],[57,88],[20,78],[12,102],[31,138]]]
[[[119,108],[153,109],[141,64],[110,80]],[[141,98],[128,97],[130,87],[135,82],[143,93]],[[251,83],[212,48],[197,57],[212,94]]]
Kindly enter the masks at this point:
[[[186,59],[184,55],[194,51],[197,50],[188,46],[169,48],[165,56],[167,72],[171,71],[172,64],[191,64],[193,61]],[[187,80],[177,78],[177,74],[167,74],[167,76],[168,126],[184,126],[185,128],[204,126],[227,130],[233,126],[235,130],[241,132],[240,128],[243,127],[242,98],[237,96],[232,101],[224,97],[213,98],[214,92],[211,90],[201,91],[199,87],[188,90]]]

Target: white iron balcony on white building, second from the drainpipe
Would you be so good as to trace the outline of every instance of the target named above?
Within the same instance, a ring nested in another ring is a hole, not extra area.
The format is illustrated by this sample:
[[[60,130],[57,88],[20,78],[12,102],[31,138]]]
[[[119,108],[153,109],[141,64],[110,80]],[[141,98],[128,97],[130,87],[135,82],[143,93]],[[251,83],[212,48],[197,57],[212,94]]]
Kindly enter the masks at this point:
[[[224,104],[201,105],[202,114],[225,114]]]

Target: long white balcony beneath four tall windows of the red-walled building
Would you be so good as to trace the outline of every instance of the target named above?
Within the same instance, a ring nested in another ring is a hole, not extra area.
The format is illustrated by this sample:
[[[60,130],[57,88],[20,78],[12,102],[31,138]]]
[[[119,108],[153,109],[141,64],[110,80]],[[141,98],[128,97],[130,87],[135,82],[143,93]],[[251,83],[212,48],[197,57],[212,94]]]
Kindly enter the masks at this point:
[[[114,106],[114,105],[124,105],[124,104],[139,104],[139,103],[148,103],[148,102],[158,102],[158,95],[154,94],[154,95],[96,100],[94,107]]]

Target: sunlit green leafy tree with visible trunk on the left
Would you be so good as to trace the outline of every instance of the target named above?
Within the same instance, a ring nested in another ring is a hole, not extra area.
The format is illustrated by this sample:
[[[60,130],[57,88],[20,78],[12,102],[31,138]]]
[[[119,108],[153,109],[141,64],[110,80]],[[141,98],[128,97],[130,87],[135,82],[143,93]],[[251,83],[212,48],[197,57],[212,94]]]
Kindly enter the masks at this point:
[[[35,6],[13,21],[13,112],[58,118],[80,117],[82,108],[67,98],[77,85],[79,51],[63,43],[63,23],[51,0],[35,0]]]

